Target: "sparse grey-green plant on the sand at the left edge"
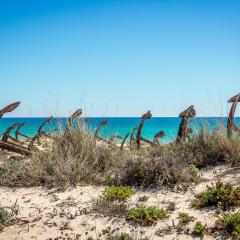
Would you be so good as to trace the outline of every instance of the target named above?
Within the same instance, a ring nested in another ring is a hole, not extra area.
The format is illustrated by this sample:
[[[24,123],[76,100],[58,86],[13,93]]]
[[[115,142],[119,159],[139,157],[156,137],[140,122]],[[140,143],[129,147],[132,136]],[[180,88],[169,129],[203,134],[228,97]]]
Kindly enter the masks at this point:
[[[17,201],[11,208],[0,207],[0,232],[9,223],[9,221],[18,214]]]

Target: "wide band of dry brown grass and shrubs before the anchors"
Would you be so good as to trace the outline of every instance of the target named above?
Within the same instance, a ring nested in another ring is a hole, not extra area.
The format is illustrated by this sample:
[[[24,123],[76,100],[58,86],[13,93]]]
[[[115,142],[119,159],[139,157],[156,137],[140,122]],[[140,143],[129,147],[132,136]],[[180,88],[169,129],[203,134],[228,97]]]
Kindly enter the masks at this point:
[[[0,185],[188,186],[198,180],[202,167],[240,163],[240,141],[228,141],[221,131],[205,129],[187,142],[123,151],[99,144],[80,124],[70,129],[67,137],[63,132],[52,141],[51,148],[30,159],[6,160],[0,166]]]

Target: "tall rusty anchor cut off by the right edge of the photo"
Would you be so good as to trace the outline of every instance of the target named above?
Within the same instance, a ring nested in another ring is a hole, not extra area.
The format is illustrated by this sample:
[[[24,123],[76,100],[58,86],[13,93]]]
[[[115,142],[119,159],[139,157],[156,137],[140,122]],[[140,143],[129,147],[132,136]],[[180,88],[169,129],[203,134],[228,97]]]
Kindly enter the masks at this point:
[[[228,100],[228,103],[232,103],[229,116],[228,116],[228,122],[227,122],[227,136],[229,140],[232,140],[233,132],[236,132],[237,135],[239,135],[239,132],[240,132],[240,128],[237,127],[234,123],[234,116],[235,116],[237,104],[239,102],[240,102],[240,93]]]

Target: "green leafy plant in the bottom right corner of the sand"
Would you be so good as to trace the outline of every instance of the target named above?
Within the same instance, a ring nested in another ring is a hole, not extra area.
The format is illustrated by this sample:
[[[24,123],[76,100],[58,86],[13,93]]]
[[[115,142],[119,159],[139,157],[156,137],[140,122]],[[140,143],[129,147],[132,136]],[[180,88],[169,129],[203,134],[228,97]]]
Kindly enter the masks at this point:
[[[225,213],[220,215],[215,223],[215,227],[233,237],[240,237],[240,213]]]

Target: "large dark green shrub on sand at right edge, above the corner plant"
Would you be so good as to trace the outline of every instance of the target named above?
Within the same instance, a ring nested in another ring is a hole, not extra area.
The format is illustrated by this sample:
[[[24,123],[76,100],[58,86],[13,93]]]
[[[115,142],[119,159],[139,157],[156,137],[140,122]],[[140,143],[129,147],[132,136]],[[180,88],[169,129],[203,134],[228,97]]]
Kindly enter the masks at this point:
[[[240,188],[217,182],[216,186],[208,186],[206,191],[198,194],[192,205],[196,208],[216,206],[223,210],[231,206],[240,206]]]

